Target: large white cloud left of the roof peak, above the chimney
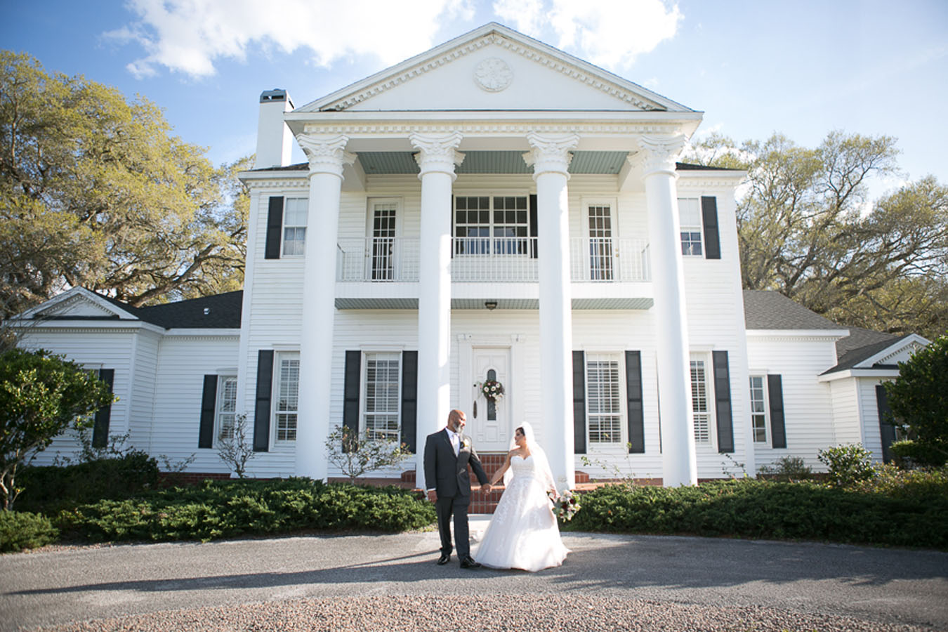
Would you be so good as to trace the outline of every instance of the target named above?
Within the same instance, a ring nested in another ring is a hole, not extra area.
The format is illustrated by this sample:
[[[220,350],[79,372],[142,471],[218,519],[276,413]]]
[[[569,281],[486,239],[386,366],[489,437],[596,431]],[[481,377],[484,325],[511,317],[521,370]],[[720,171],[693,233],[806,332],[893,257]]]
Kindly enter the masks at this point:
[[[328,66],[351,54],[400,62],[430,47],[446,19],[470,19],[469,0],[131,0],[139,20],[106,33],[140,44],[147,55],[128,69],[137,77],[160,67],[192,77],[214,74],[222,58],[243,60],[250,45],[305,50]]]

